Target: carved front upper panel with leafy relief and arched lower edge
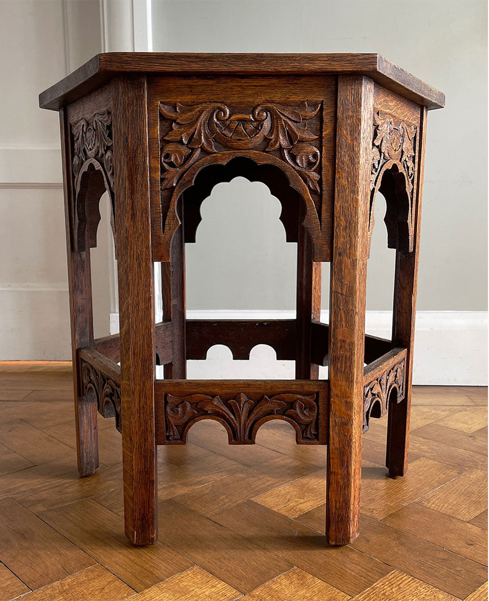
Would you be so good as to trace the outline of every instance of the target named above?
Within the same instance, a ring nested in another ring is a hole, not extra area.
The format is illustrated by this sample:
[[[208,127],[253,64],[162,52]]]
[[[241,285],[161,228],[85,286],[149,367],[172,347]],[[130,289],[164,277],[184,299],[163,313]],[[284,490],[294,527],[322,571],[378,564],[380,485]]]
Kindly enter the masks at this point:
[[[313,240],[319,240],[322,107],[322,102],[311,100],[290,104],[160,101],[161,231],[167,237],[163,254],[169,254],[169,239],[180,222],[178,198],[192,186],[198,171],[209,165],[224,167],[243,156],[255,166],[278,166],[287,175],[305,201],[304,225]]]

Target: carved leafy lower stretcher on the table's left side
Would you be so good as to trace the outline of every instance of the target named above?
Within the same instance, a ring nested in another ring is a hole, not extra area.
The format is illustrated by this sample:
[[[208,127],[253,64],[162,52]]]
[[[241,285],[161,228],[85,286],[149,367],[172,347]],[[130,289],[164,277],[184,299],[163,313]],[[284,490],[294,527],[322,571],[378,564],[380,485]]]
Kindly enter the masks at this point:
[[[121,387],[119,382],[80,359],[82,374],[81,395],[89,403],[97,403],[97,410],[104,417],[115,417],[115,427],[122,432]]]

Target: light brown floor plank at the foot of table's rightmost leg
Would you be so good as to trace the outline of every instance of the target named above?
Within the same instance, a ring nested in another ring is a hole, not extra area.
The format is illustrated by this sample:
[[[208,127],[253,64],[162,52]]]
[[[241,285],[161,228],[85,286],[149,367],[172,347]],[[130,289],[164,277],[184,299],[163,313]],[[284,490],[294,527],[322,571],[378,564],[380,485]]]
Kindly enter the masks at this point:
[[[381,519],[396,509],[415,501],[427,492],[442,486],[462,473],[460,468],[421,457],[410,465],[402,478],[363,481],[360,511]]]

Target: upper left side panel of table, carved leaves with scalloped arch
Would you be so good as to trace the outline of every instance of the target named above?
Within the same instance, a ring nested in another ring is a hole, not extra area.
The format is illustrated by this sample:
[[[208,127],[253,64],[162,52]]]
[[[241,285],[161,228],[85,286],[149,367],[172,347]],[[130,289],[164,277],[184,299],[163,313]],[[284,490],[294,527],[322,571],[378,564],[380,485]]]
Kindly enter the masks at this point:
[[[90,248],[97,245],[97,227],[100,222],[99,200],[105,191],[111,197],[111,225],[115,240],[114,153],[112,151],[111,111],[99,112],[89,119],[71,123],[73,178],[73,231],[75,250],[85,250],[88,230]],[[94,182],[93,172],[99,177]],[[87,175],[85,175],[87,174]],[[84,178],[88,180],[84,181]],[[93,187],[90,190],[90,187]]]

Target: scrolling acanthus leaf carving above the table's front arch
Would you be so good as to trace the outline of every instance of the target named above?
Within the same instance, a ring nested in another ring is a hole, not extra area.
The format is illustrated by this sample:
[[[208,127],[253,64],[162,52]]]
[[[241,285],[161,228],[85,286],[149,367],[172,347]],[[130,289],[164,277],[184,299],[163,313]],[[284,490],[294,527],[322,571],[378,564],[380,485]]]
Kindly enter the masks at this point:
[[[160,115],[172,121],[161,150],[162,189],[172,188],[202,153],[255,149],[278,151],[312,191],[320,194],[321,153],[311,143],[318,135],[308,121],[318,114],[321,103],[299,106],[262,103],[249,111],[233,112],[221,102],[198,105],[160,104]]]

